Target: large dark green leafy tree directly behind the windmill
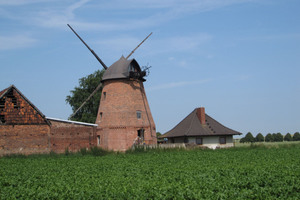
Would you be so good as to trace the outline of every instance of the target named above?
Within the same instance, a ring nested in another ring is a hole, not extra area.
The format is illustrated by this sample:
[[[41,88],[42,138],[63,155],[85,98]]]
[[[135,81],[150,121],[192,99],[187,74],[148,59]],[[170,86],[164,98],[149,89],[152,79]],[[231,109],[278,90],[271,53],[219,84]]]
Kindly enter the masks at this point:
[[[104,70],[97,70],[93,74],[79,79],[79,86],[71,90],[71,95],[66,97],[66,102],[72,107],[75,112],[77,108],[90,96],[90,94],[97,88],[102,80]],[[99,102],[101,98],[102,87],[95,93],[95,95],[87,101],[87,103],[71,118],[74,121],[95,123]]]

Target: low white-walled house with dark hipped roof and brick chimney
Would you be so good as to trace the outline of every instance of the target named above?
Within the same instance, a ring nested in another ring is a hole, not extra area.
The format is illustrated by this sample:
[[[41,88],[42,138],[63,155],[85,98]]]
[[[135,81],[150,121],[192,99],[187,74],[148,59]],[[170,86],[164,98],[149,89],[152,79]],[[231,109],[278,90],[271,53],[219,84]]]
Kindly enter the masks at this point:
[[[215,149],[232,147],[233,135],[241,134],[217,122],[201,107],[160,138],[165,138],[167,143],[197,144]]]

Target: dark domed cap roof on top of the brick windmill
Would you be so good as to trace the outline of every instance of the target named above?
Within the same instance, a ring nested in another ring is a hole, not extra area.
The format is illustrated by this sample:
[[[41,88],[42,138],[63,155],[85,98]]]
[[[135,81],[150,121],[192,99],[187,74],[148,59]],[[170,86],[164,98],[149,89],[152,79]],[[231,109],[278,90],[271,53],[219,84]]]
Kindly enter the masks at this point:
[[[135,59],[126,60],[126,58],[122,56],[105,71],[102,81],[109,79],[129,78],[130,65],[133,65],[137,70],[141,71],[141,68]]]

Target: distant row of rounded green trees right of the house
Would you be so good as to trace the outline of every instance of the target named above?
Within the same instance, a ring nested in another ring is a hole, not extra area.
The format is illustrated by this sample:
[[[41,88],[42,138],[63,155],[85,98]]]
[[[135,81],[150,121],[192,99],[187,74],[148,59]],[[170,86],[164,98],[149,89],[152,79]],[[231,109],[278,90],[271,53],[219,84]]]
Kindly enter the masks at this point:
[[[283,142],[283,141],[300,141],[300,133],[296,132],[292,136],[290,133],[282,135],[281,133],[268,133],[265,137],[258,133],[253,137],[252,133],[248,132],[245,137],[240,139],[241,143],[244,142]]]

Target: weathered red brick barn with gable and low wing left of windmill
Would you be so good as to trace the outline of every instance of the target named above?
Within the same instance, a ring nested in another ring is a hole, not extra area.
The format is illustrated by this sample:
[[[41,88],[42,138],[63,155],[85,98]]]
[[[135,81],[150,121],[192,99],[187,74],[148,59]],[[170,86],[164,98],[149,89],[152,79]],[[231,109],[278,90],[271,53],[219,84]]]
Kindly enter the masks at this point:
[[[0,91],[0,155],[96,145],[96,124],[47,118],[14,85]]]

